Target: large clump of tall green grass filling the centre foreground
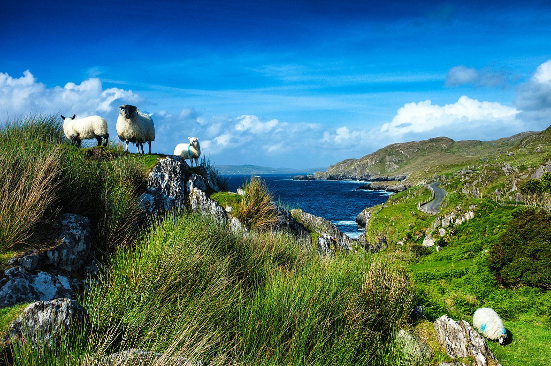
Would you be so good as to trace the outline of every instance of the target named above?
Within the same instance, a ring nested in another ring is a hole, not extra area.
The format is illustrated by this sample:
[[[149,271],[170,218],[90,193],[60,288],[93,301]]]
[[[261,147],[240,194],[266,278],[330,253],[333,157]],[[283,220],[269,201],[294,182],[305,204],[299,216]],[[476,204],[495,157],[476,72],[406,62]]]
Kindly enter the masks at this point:
[[[404,272],[368,256],[322,261],[292,237],[188,213],[117,250],[83,298],[98,329],[136,336],[111,351],[197,343],[213,364],[386,364],[410,301]]]

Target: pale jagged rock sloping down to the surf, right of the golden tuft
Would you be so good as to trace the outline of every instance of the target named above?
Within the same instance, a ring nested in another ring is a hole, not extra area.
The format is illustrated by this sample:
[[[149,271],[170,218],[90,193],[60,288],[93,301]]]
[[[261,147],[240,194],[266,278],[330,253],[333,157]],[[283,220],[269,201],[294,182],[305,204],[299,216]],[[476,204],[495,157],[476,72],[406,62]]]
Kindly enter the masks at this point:
[[[304,225],[309,232],[318,234],[318,248],[321,248],[321,251],[318,250],[318,252],[320,254],[327,253],[327,249],[331,250],[331,252],[341,250],[346,253],[352,249],[354,241],[329,220],[308,214],[299,209],[291,210],[291,215],[293,215],[296,221]]]

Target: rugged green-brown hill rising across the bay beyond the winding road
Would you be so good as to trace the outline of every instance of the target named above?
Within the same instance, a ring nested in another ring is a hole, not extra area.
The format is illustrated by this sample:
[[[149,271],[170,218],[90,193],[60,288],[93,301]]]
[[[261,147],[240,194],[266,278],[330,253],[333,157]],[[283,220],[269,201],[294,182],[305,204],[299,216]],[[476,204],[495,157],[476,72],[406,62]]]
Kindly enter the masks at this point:
[[[482,160],[509,161],[526,155],[527,149],[549,151],[550,128],[542,132],[522,132],[494,141],[454,141],[440,136],[422,141],[396,143],[360,159],[346,159],[316,172],[320,179],[361,179],[391,181],[406,179],[416,184],[434,174],[445,174],[467,168]]]

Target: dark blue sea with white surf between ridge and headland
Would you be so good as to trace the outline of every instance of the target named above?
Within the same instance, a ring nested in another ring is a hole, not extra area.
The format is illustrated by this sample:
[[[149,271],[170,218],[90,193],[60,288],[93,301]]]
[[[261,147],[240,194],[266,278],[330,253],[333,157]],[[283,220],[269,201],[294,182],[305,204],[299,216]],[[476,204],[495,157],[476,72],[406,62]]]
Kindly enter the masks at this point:
[[[229,177],[229,190],[235,192],[250,175]],[[356,216],[366,207],[388,199],[388,192],[355,190],[366,182],[359,181],[293,181],[292,175],[262,174],[261,178],[276,200],[291,209],[302,209],[312,215],[327,218],[351,238],[363,232]]]

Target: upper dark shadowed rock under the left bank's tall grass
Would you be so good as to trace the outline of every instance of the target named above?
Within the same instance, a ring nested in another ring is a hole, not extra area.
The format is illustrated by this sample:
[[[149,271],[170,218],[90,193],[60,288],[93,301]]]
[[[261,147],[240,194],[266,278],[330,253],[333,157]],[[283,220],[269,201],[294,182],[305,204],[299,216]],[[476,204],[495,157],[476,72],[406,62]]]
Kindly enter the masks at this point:
[[[57,226],[60,233],[53,247],[14,256],[8,260],[8,265],[26,270],[54,268],[71,272],[80,269],[87,263],[90,253],[90,220],[80,215],[64,214]]]

